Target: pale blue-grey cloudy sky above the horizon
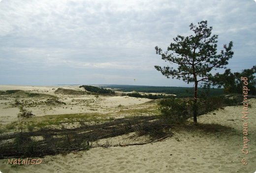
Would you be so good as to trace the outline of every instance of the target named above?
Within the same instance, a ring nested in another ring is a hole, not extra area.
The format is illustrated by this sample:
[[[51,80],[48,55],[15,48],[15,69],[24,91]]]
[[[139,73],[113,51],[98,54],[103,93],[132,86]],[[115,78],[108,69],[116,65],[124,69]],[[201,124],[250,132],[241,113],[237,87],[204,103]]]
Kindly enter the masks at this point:
[[[154,68],[169,65],[155,46],[202,20],[218,53],[233,41],[227,68],[256,65],[254,0],[0,0],[0,85],[190,87]]]

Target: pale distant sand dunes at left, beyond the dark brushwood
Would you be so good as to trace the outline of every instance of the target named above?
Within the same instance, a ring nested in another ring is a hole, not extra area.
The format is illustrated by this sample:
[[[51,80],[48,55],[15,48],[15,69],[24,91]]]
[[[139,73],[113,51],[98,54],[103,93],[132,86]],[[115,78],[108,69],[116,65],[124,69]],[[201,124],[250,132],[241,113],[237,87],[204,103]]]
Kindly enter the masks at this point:
[[[35,116],[43,115],[61,115],[61,114],[78,114],[78,113],[100,113],[110,114],[120,111],[122,106],[136,106],[150,101],[147,98],[134,98],[128,96],[99,96],[95,95],[64,95],[55,94],[58,88],[84,90],[79,86],[57,86],[57,87],[32,87],[32,86],[0,86],[0,90],[20,89],[33,93],[50,94],[57,96],[60,101],[66,105],[28,107]],[[0,99],[0,124],[7,124],[17,120],[19,114],[18,107],[12,107],[14,97],[2,97]],[[45,101],[41,98],[19,98],[26,101]]]

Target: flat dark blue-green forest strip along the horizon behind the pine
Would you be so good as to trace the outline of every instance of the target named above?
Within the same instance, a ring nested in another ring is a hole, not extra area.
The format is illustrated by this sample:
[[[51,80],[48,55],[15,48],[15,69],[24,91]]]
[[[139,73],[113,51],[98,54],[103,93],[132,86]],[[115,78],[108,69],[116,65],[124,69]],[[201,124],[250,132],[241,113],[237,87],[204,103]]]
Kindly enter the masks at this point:
[[[194,91],[193,87],[154,87],[154,86],[129,86],[129,85],[105,85],[102,87],[118,89],[119,91],[124,92],[156,92],[156,93],[165,93],[165,94],[175,94],[176,97],[193,97]],[[203,91],[203,92],[202,92]],[[203,88],[198,88],[198,94],[205,93],[206,90]],[[216,96],[224,94],[223,88],[210,88],[209,95]]]

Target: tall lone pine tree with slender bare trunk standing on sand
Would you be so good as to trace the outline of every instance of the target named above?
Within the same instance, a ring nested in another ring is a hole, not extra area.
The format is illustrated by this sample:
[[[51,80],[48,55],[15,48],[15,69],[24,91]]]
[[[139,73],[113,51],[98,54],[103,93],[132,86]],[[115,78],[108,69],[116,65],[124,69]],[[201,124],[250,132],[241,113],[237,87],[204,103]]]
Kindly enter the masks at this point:
[[[225,68],[228,60],[232,58],[233,42],[224,45],[224,50],[217,54],[218,35],[212,35],[212,27],[207,26],[207,21],[201,21],[198,26],[191,24],[190,30],[193,35],[181,36],[173,38],[173,43],[163,52],[158,46],[155,47],[156,53],[173,66],[155,66],[155,68],[167,78],[182,79],[184,82],[194,83],[194,122],[197,122],[197,87],[198,84],[209,86],[211,70],[217,68]]]

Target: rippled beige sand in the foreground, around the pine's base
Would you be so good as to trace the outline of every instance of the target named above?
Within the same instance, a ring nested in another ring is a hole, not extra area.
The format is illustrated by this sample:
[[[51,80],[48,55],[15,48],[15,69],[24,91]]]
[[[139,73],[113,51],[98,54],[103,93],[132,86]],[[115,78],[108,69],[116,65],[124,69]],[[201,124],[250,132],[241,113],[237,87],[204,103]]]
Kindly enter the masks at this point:
[[[171,129],[174,135],[145,145],[96,147],[67,155],[46,156],[40,165],[11,166],[0,160],[2,173],[254,173],[256,171],[256,99],[242,106],[201,115],[198,127]],[[192,120],[189,120],[192,121]],[[243,123],[249,122],[249,154],[243,154]],[[211,129],[211,130],[206,130]],[[130,134],[132,135],[132,134]],[[127,136],[111,139],[122,140]],[[241,163],[246,158],[248,165]]]

